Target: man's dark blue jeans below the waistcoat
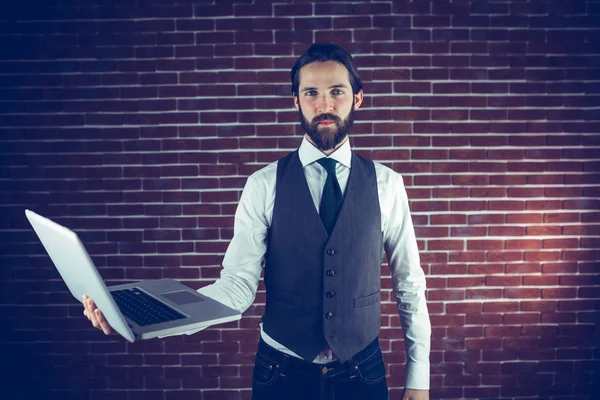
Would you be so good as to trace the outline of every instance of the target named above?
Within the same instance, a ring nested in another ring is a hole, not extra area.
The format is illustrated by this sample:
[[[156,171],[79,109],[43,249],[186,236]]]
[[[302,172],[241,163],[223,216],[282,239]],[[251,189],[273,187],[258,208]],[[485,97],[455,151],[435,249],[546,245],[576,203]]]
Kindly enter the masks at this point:
[[[379,340],[345,363],[313,364],[262,339],[252,377],[252,400],[387,400]]]

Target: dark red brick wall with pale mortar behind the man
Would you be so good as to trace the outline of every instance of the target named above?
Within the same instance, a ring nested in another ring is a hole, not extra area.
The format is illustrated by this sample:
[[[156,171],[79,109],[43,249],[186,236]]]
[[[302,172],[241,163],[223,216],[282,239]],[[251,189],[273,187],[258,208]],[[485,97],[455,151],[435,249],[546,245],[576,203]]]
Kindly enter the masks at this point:
[[[355,55],[352,144],[402,173],[432,398],[591,399],[600,380],[600,2],[10,2],[0,12],[0,350],[11,399],[249,399],[241,321],[135,344],[81,315],[24,218],[110,284],[218,276],[246,177],[300,142],[289,70]],[[383,270],[392,398],[402,332]]]

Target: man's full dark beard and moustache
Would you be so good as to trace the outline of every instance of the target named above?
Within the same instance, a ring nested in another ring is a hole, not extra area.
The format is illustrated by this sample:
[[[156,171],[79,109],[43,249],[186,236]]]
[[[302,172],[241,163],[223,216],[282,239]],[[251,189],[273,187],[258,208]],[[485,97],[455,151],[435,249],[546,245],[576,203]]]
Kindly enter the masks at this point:
[[[352,103],[350,113],[344,120],[341,120],[335,114],[321,114],[309,122],[302,113],[302,107],[299,107],[299,109],[302,128],[319,150],[334,149],[348,136],[354,124],[354,103]],[[331,120],[334,124],[319,128],[319,122],[323,120]]]

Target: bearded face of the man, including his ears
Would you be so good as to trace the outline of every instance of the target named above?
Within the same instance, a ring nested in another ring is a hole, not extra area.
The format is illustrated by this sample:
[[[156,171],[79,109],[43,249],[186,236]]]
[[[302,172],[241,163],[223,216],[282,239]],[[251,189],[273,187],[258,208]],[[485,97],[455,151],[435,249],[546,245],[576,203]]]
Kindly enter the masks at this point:
[[[348,70],[336,61],[313,62],[300,69],[294,105],[307,139],[321,151],[343,143],[354,123],[362,91],[353,95]]]

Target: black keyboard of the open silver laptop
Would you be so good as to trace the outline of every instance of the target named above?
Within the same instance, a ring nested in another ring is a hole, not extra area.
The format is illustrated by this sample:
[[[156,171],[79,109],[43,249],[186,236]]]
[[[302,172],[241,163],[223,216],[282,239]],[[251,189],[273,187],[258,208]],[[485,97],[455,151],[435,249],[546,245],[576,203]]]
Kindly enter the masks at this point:
[[[110,292],[121,312],[140,326],[160,324],[185,318],[168,305],[138,288]]]

